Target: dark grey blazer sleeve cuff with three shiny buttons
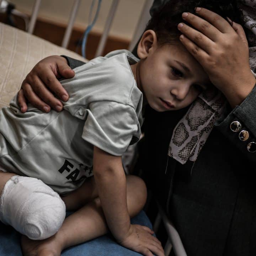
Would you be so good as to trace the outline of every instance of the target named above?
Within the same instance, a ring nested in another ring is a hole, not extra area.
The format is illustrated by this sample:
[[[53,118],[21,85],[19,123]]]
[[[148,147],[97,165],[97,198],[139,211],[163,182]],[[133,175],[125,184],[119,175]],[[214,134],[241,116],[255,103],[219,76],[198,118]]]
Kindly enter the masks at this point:
[[[256,162],[256,86],[245,100],[215,123],[231,144]]]

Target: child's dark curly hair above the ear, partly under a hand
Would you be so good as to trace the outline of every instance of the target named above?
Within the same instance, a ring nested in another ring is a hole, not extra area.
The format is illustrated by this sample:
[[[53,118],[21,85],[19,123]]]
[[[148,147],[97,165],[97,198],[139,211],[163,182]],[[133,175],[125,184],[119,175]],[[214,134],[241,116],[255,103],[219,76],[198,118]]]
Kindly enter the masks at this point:
[[[228,17],[232,22],[241,23],[242,13],[236,5],[236,0],[170,0],[153,12],[145,30],[155,31],[159,45],[175,43],[181,35],[177,29],[178,23],[186,23],[181,17],[182,13],[195,14],[196,7],[209,9],[226,20]]]

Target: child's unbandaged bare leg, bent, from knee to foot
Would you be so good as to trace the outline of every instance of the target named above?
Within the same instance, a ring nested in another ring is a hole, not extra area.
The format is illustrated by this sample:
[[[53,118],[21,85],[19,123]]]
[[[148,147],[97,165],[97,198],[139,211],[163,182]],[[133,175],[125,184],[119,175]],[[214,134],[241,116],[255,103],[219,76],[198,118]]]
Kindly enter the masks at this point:
[[[130,217],[138,214],[144,207],[145,202],[146,187],[144,182],[138,177],[128,176],[127,206]],[[107,231],[100,200],[95,198],[66,218],[57,234],[51,238],[43,241],[33,241],[23,236],[22,250],[25,256],[59,256],[63,249],[104,235]]]

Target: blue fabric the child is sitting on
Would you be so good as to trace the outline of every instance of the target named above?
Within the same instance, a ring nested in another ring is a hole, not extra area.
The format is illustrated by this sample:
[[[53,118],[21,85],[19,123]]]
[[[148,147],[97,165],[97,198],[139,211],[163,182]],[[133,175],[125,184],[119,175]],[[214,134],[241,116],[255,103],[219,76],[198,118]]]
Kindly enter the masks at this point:
[[[69,214],[67,214],[69,215]],[[152,224],[142,211],[131,220],[132,224],[148,226]],[[10,226],[0,222],[0,256],[22,256],[20,248],[20,234]],[[137,252],[117,244],[111,235],[104,235],[84,244],[76,245],[64,250],[62,256],[141,256]]]

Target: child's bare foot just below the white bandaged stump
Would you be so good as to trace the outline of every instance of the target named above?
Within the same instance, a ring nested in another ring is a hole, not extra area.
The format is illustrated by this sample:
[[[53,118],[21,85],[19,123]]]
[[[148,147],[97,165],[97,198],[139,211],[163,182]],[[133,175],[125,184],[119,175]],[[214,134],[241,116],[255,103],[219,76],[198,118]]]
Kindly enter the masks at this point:
[[[44,240],[31,240],[27,236],[21,237],[23,256],[60,256],[62,246],[55,239],[55,235]]]

